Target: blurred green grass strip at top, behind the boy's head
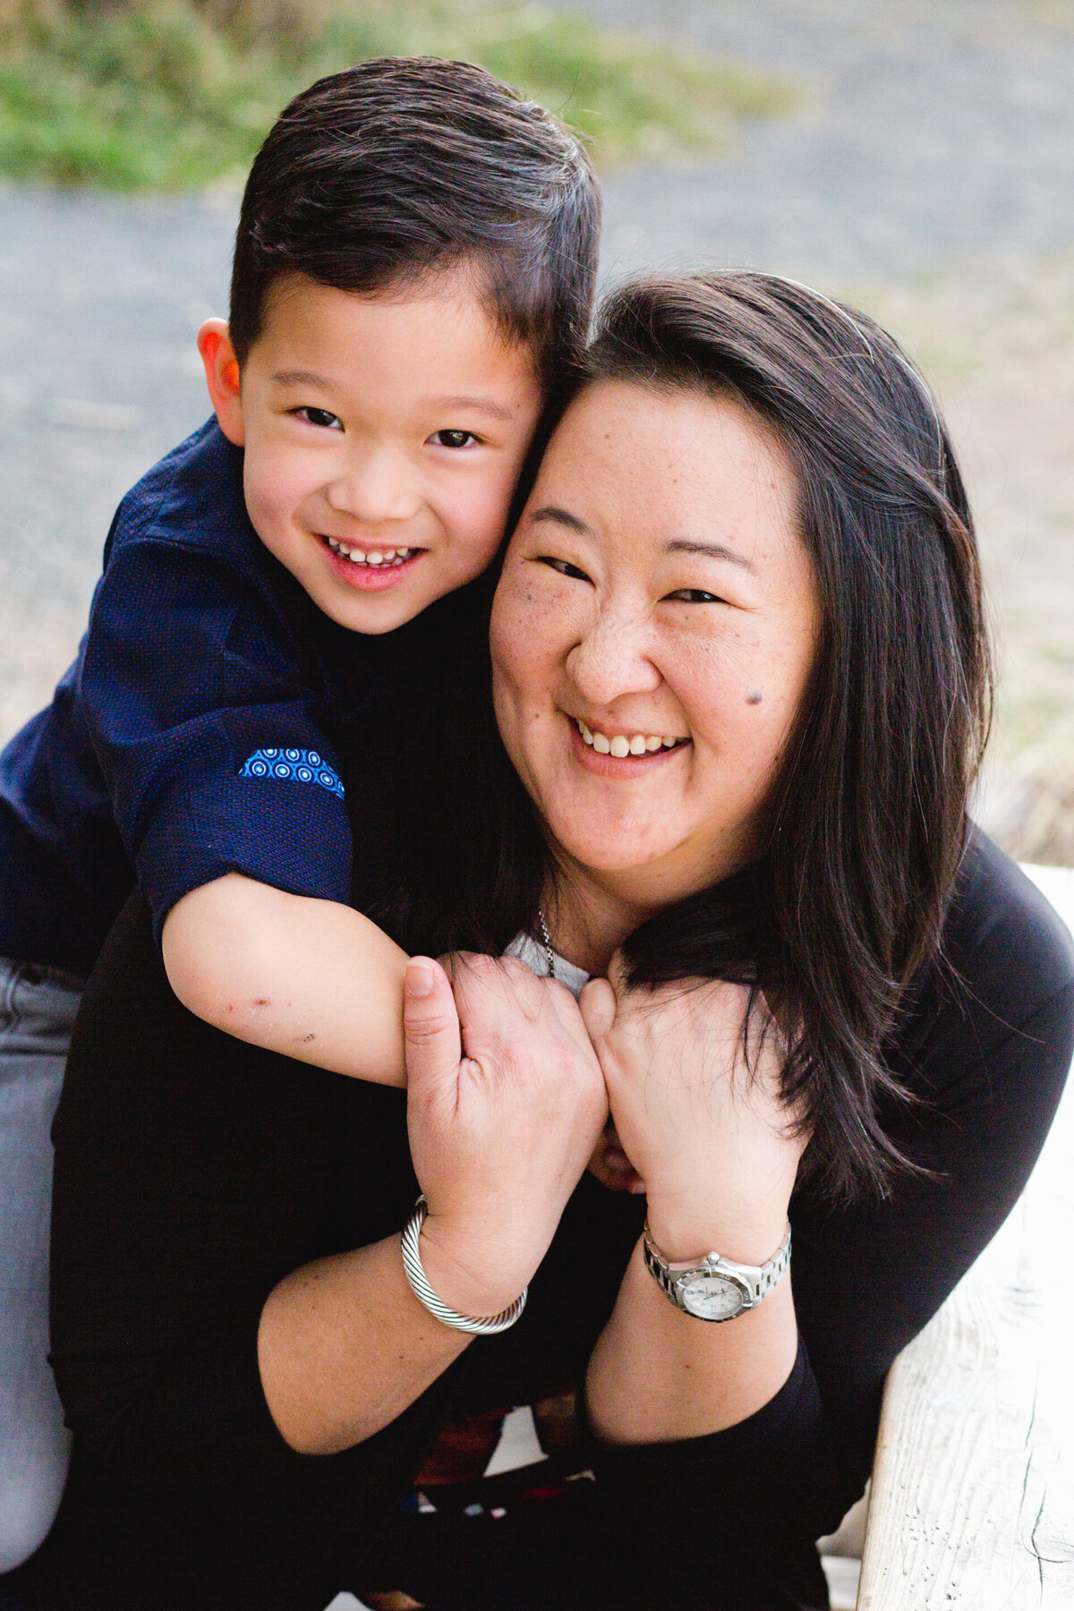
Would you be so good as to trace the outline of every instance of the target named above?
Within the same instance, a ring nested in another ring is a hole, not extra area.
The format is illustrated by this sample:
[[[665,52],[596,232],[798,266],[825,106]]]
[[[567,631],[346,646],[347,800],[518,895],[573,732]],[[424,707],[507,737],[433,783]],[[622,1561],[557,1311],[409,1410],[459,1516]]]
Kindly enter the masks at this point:
[[[602,166],[710,151],[792,100],[783,81],[539,5],[23,0],[2,16],[3,0],[0,174],[61,185],[242,176],[293,93],[377,55],[480,61],[589,135]]]

